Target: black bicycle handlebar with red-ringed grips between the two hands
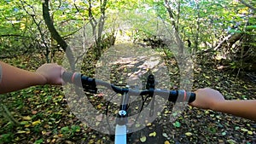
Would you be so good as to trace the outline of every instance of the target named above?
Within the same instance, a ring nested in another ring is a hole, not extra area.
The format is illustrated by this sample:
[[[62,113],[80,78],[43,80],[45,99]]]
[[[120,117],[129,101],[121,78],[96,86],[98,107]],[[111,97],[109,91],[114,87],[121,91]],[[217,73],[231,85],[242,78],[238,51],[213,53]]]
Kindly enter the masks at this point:
[[[84,90],[96,94],[97,88],[96,85],[101,85],[107,89],[112,89],[114,92],[118,94],[125,94],[129,92],[129,95],[160,95],[168,96],[168,101],[176,102],[177,97],[180,95],[183,97],[183,101],[189,101],[193,102],[195,101],[195,93],[193,92],[186,92],[185,90],[163,90],[163,89],[143,89],[143,90],[138,90],[138,89],[130,89],[130,88],[119,88],[118,86],[115,86],[114,84],[109,84],[108,82],[104,82],[102,80],[98,80],[95,78],[89,78],[85,77],[81,73],[77,72],[63,72],[62,74],[62,79],[71,84],[75,84]]]

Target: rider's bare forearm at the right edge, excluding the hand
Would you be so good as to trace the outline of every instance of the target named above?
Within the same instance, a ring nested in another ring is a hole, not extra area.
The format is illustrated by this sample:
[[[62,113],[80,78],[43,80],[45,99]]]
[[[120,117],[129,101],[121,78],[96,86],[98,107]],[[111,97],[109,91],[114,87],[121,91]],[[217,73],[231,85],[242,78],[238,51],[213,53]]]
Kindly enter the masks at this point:
[[[256,121],[256,100],[221,101],[212,107],[212,110]]]

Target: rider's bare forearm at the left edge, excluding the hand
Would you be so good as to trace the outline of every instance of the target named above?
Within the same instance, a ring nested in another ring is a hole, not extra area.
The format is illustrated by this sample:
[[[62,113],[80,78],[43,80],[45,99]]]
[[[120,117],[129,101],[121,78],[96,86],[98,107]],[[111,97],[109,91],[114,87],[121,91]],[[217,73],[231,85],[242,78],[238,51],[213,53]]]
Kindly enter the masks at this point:
[[[46,83],[46,79],[37,72],[28,72],[15,66],[10,66],[2,61],[0,61],[0,65],[3,71],[0,94]]]

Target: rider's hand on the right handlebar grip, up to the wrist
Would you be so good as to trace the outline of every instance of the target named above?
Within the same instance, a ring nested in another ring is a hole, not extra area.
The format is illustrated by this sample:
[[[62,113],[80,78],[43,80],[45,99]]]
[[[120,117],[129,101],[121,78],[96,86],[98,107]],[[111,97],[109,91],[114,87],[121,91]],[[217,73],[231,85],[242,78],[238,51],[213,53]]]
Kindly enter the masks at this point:
[[[191,102],[190,105],[193,107],[199,107],[203,109],[215,109],[216,104],[225,101],[224,96],[221,95],[218,90],[205,88],[197,89],[195,91],[195,101]]]

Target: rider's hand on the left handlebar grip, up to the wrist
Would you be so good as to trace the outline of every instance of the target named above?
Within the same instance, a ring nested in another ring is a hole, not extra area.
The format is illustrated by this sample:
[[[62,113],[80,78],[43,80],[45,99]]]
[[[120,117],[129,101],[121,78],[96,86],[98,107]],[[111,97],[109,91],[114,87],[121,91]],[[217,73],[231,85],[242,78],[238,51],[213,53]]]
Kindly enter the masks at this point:
[[[57,64],[44,64],[36,71],[43,79],[44,84],[64,84],[61,75],[65,69]]]

